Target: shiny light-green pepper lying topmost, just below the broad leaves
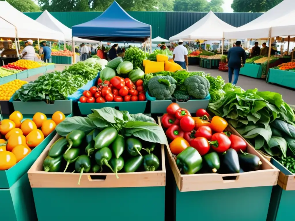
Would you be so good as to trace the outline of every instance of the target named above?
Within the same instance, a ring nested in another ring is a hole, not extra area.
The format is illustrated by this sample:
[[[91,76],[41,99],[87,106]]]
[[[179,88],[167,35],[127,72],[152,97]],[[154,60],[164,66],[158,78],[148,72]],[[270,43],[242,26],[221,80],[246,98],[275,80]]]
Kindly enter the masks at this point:
[[[112,144],[112,142],[117,138],[118,132],[113,127],[107,127],[99,134],[97,134],[95,138],[95,149],[101,149],[104,147],[108,147]]]

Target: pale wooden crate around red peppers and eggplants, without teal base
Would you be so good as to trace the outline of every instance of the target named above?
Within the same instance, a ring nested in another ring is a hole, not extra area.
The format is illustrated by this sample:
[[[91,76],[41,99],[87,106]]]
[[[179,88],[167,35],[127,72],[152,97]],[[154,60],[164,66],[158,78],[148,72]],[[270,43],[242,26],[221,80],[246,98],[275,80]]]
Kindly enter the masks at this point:
[[[158,117],[161,126],[161,117]],[[226,131],[242,137],[232,126],[228,126]],[[242,137],[243,138],[243,137]],[[244,139],[244,138],[243,138]],[[244,139],[245,140],[245,139]],[[245,140],[246,141],[246,140]],[[247,141],[246,141],[247,142]],[[244,172],[240,174],[191,174],[183,175],[180,173],[176,161],[167,147],[168,161],[171,166],[176,185],[180,192],[213,190],[213,189],[231,189],[243,187],[263,187],[275,186],[278,181],[279,170],[258,153],[248,142],[247,152],[257,155],[261,162],[261,170]],[[232,179],[228,180],[231,177]],[[225,180],[224,180],[225,178]]]

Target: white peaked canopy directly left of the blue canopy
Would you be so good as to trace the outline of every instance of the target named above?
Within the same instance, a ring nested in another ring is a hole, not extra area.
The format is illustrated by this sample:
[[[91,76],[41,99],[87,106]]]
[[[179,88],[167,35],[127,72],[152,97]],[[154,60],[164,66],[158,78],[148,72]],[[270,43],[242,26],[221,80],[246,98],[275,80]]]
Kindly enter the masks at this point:
[[[57,32],[62,32],[65,35],[66,41],[72,41],[72,29],[65,26],[63,23],[58,21],[55,17],[53,17],[47,10],[45,10],[37,19],[37,22],[45,25],[46,27],[53,29]],[[82,39],[78,37],[73,37],[73,41],[75,42],[85,42],[91,44],[98,44],[98,41]]]

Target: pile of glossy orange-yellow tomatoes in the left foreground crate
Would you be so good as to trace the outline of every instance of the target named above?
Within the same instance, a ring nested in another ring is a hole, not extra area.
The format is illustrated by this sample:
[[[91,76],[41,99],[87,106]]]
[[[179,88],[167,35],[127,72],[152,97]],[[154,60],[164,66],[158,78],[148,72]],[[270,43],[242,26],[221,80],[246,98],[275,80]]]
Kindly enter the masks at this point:
[[[38,112],[32,120],[23,120],[22,113],[14,111],[9,119],[2,120],[0,133],[5,139],[0,139],[0,170],[11,168],[30,154],[64,119],[65,115],[57,111],[52,119]]]

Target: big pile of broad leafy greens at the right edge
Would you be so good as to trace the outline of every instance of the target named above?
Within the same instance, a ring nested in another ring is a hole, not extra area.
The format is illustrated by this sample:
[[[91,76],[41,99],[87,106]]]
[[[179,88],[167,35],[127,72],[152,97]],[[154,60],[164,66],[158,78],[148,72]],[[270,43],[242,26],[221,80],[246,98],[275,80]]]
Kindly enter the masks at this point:
[[[285,166],[294,159],[295,115],[281,94],[257,89],[234,90],[221,100],[210,103],[208,109],[226,118],[255,149],[275,156],[286,163]],[[287,157],[289,161],[286,161]],[[288,169],[295,172],[291,164]]]

